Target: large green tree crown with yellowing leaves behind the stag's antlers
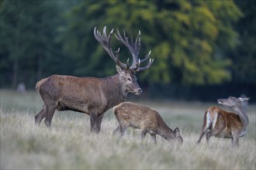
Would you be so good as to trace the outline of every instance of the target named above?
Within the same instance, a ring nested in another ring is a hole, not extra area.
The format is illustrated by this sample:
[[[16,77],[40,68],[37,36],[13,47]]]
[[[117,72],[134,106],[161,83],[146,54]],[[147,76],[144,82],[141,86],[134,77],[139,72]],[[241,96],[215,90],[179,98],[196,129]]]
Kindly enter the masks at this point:
[[[130,36],[140,29],[140,56],[151,49],[155,58],[147,76],[140,76],[144,83],[219,84],[231,79],[227,71],[230,59],[223,49],[234,48],[232,24],[240,15],[234,2],[85,1],[67,14],[64,49],[85,61],[77,66],[78,74],[95,70],[95,76],[106,76],[113,72],[112,60],[93,39],[93,28],[119,28]],[[113,42],[112,46],[121,45]],[[121,48],[121,54],[124,50]],[[122,56],[126,59],[129,53]]]

